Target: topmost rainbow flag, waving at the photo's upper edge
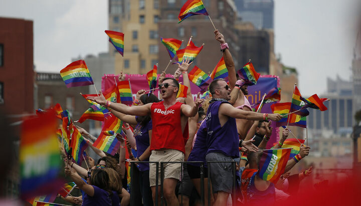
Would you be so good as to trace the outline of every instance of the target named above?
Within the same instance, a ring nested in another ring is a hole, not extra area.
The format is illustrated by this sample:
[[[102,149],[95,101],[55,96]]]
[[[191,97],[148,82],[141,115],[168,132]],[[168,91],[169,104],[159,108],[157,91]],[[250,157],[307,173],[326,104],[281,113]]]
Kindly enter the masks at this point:
[[[206,15],[208,16],[208,13],[206,11],[206,8],[203,5],[202,0],[188,0],[180,9],[178,20],[182,22],[183,20],[187,19],[188,17],[191,17],[193,15]]]

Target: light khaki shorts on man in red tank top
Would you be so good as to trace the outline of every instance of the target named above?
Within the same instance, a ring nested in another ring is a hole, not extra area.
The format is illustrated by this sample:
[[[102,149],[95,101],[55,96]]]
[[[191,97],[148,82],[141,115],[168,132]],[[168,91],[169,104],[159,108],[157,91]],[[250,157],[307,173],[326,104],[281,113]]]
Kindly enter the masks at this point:
[[[154,162],[166,162],[166,161],[184,161],[184,153],[176,149],[164,149],[160,151],[151,151],[149,161]],[[164,163],[164,179],[165,178],[174,178],[179,179],[180,174],[182,173],[182,164],[180,163]],[[159,163],[159,173],[158,173],[158,185],[160,185],[160,163]],[[150,186],[155,186],[155,173],[156,173],[156,164],[149,163],[149,183]]]

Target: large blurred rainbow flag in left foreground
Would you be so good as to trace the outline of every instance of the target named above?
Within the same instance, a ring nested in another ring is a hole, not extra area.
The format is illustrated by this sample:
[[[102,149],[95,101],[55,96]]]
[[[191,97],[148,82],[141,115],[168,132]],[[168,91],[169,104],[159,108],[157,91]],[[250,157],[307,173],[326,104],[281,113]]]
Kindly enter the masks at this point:
[[[56,115],[51,111],[23,122],[19,151],[20,193],[23,199],[57,192],[63,184],[57,127]]]

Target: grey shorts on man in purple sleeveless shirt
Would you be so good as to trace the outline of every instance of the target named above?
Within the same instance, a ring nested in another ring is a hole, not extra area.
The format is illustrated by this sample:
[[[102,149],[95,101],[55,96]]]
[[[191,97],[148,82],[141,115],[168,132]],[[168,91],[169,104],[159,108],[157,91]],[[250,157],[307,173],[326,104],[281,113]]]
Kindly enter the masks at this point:
[[[208,161],[234,161],[232,157],[220,152],[211,152],[206,155]],[[211,171],[211,182],[213,193],[224,191],[232,193],[233,189],[233,166],[231,162],[208,162]]]

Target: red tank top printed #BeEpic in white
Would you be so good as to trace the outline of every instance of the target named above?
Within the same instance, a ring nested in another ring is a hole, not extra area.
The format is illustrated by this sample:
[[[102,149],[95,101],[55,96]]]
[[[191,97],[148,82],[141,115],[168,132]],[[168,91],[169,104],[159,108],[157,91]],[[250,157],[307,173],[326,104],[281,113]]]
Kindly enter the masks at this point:
[[[163,101],[151,105],[152,138],[150,151],[156,149],[176,149],[185,153],[185,144],[188,139],[188,121],[184,132],[180,123],[180,106],[176,102],[165,110]]]

